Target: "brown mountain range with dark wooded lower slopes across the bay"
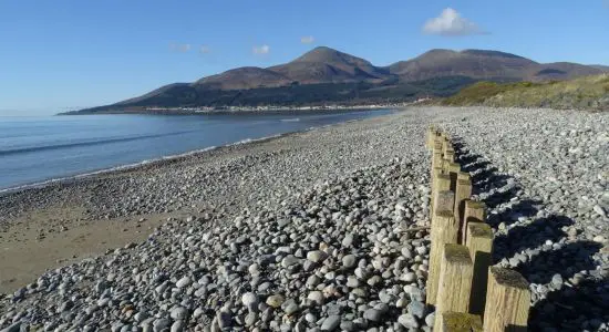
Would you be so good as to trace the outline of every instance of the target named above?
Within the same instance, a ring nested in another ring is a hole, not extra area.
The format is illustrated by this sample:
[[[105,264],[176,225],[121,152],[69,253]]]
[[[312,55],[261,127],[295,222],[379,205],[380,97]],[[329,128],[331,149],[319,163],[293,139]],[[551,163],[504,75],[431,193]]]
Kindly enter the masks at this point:
[[[245,66],[174,83],[112,105],[71,113],[143,111],[149,107],[224,107],[375,103],[446,96],[478,81],[568,80],[609,72],[609,66],[571,62],[538,63],[488,50],[431,50],[388,66],[327,46],[285,64]]]

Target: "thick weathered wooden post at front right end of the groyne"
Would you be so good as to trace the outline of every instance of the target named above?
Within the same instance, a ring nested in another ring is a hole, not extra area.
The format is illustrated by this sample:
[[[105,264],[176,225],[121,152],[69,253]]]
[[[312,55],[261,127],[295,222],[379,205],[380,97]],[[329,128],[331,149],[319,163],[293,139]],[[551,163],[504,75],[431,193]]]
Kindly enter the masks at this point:
[[[530,292],[528,282],[516,271],[491,267],[484,331],[526,331]]]

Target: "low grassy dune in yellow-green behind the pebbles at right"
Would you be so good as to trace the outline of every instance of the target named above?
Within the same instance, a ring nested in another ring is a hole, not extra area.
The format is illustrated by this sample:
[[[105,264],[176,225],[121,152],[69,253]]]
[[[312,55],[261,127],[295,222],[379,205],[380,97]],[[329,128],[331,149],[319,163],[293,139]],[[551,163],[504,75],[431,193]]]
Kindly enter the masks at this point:
[[[609,74],[544,83],[479,82],[441,103],[455,106],[609,111]]]

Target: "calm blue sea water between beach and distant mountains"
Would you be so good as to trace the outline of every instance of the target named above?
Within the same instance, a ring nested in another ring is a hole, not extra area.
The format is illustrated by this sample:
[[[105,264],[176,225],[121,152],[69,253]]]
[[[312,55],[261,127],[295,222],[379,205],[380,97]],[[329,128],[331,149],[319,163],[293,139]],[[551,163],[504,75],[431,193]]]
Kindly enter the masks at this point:
[[[0,191],[391,112],[0,117]]]

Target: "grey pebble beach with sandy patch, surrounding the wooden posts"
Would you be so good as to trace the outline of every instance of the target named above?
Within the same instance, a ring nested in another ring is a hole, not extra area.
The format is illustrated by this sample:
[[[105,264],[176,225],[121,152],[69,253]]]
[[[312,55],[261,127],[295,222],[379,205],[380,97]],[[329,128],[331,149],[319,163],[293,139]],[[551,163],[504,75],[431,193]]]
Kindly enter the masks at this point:
[[[488,207],[494,263],[530,284],[529,330],[609,331],[609,113],[487,107],[3,194],[0,331],[432,331],[430,124]]]

